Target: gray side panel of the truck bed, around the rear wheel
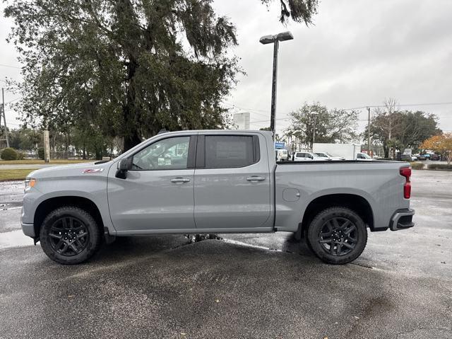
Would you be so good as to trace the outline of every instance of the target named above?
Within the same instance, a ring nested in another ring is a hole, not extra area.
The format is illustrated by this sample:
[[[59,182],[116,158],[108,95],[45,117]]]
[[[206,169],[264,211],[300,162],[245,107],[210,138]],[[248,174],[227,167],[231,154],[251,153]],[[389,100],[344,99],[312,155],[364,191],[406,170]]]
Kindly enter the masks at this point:
[[[395,209],[407,209],[401,161],[278,161],[275,168],[275,228],[292,230],[318,197],[351,195],[367,200],[373,211],[372,231],[388,229]],[[299,196],[297,196],[299,195]],[[342,197],[341,197],[342,196]]]

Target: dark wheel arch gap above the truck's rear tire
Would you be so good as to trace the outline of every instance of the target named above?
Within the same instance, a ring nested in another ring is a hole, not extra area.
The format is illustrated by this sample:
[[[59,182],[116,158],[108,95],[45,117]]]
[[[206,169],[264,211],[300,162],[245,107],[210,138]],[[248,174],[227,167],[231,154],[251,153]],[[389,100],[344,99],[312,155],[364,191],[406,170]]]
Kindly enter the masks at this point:
[[[312,219],[328,207],[346,207],[361,217],[364,224],[374,231],[374,212],[366,198],[351,193],[321,195],[309,202],[304,210],[302,222],[299,224],[299,236],[303,237]]]

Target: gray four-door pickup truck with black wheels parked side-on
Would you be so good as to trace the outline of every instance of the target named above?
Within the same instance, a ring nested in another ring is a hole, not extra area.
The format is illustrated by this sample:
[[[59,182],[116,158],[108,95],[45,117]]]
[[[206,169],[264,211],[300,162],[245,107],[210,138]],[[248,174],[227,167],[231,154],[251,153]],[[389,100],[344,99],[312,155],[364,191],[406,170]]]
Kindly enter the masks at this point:
[[[21,224],[63,264],[116,236],[275,231],[344,264],[364,251],[367,228],[414,225],[410,175],[404,162],[276,162],[270,132],[166,132],[113,161],[30,173]]]

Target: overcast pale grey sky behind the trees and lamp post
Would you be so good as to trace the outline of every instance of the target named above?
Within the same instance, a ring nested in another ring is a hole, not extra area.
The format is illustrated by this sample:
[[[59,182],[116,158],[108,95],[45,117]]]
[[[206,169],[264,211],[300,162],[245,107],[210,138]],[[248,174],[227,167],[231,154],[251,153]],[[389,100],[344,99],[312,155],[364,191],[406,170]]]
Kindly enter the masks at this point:
[[[268,126],[270,115],[273,48],[258,40],[290,30],[295,39],[280,44],[278,130],[289,125],[287,113],[304,102],[357,108],[393,97],[400,108],[436,114],[440,127],[452,131],[451,0],[323,0],[309,27],[279,23],[278,2],[269,8],[260,0],[214,3],[237,26],[234,53],[246,71],[225,105],[250,112],[251,128]],[[16,52],[5,41],[10,27],[1,17],[0,85],[5,76],[19,78]],[[5,93],[6,102],[16,98]],[[8,105],[6,115],[16,127],[17,114]],[[359,130],[366,119],[362,109]]]

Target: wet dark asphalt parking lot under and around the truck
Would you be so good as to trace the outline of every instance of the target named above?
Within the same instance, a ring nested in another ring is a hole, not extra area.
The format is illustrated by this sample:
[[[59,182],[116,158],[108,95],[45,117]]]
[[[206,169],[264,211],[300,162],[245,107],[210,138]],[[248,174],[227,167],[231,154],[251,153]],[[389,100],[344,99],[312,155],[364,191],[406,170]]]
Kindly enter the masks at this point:
[[[0,183],[0,338],[452,338],[452,172],[413,171],[416,226],[342,266],[287,233],[123,238],[59,265],[18,231],[22,190]]]

